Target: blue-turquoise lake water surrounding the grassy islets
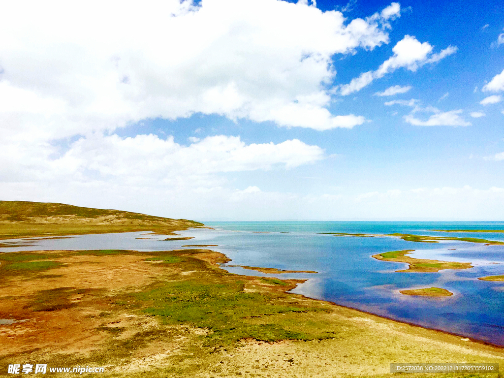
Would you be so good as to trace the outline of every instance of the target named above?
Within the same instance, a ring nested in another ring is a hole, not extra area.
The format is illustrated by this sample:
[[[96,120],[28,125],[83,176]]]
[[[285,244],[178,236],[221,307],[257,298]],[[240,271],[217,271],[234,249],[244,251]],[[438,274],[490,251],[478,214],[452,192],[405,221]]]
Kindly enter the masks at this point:
[[[223,268],[230,272],[307,279],[293,292],[504,345],[504,283],[477,279],[488,275],[504,275],[504,245],[464,241],[419,243],[391,236],[352,237],[317,233],[381,235],[399,232],[504,241],[504,233],[429,231],[504,229],[504,222],[207,222],[206,225],[214,229],[180,232],[183,236],[195,236],[192,240],[161,241],[166,236],[145,232],[80,235],[62,239],[25,239],[0,251],[108,248],[148,251],[180,248],[185,244],[218,244],[212,249],[232,259],[229,265],[318,273],[267,275],[224,265]],[[139,237],[148,239],[137,239]],[[415,258],[471,262],[474,268],[438,273],[397,273],[395,270],[405,269],[407,265],[371,258],[371,255],[401,249],[414,249],[411,256]],[[431,286],[448,289],[454,295],[426,298],[399,293],[402,289]]]

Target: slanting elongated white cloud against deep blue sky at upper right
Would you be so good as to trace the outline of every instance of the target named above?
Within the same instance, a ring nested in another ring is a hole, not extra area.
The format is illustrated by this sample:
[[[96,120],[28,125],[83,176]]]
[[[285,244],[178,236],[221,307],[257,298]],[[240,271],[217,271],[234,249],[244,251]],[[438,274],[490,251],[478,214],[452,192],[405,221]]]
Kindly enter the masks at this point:
[[[439,53],[432,53],[432,48],[428,42],[421,43],[414,36],[405,35],[392,48],[393,56],[384,61],[376,71],[364,72],[359,77],[352,79],[350,83],[341,85],[340,93],[346,96],[358,92],[373,80],[383,78],[398,68],[406,68],[415,72],[419,67],[437,62],[457,51],[457,47],[448,46]]]

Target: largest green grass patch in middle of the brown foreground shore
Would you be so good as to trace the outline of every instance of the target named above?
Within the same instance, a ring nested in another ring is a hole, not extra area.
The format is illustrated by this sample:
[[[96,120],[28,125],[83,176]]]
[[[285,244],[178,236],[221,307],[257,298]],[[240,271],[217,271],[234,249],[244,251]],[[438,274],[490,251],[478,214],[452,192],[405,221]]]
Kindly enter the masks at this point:
[[[280,281],[280,280],[278,280]],[[305,334],[273,322],[270,316],[279,313],[318,311],[317,308],[293,306],[282,297],[243,292],[244,282],[224,283],[194,281],[164,282],[153,290],[136,294],[140,300],[152,303],[144,311],[163,317],[168,324],[189,323],[208,328],[204,339],[208,346],[233,344],[244,338],[261,341],[284,339],[312,340],[334,337]],[[251,323],[248,319],[254,318]],[[258,322],[258,318],[261,318]]]

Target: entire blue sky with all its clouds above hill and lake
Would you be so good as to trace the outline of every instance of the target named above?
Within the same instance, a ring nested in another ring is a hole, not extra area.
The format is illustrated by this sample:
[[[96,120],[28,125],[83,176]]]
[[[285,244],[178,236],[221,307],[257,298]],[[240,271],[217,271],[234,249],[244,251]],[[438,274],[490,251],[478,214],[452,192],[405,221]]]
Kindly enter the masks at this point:
[[[9,7],[3,199],[198,220],[502,220],[502,2]]]

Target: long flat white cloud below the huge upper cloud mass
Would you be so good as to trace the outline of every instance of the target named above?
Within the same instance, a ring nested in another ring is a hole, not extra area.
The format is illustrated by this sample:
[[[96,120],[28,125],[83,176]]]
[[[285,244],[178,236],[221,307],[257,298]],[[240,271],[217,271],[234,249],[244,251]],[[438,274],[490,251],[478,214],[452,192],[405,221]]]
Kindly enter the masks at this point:
[[[91,170],[104,176],[169,180],[173,176],[267,170],[275,165],[293,168],[322,158],[324,150],[297,139],[246,145],[239,137],[220,135],[183,146],[173,137],[160,139],[152,134],[134,138],[100,135],[74,142],[54,164],[75,164],[75,171]]]

